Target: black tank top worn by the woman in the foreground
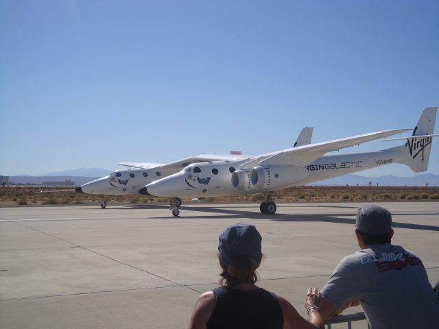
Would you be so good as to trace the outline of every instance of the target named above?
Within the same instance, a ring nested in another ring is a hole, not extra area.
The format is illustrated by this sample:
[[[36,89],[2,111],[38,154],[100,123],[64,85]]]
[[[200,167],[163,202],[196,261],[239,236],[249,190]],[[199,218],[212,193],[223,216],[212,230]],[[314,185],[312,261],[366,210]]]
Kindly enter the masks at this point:
[[[244,291],[229,287],[213,289],[215,308],[208,329],[282,329],[283,313],[276,295],[259,288]]]

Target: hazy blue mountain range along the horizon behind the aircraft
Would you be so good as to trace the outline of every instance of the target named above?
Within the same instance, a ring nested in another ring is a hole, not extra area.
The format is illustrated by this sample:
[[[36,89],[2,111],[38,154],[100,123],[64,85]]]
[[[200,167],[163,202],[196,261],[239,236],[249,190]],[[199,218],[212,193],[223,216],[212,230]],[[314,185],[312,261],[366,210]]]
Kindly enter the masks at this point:
[[[97,178],[111,173],[104,168],[80,168],[73,170],[58,171],[54,173],[45,173],[39,176],[10,176],[10,182],[15,184],[43,184],[43,182],[64,182],[71,180],[76,185],[82,185],[91,182]],[[439,175],[432,173],[423,173],[411,177],[399,177],[394,175],[380,177],[365,177],[360,175],[343,175],[329,180],[322,180],[309,185],[313,186],[439,186]]]

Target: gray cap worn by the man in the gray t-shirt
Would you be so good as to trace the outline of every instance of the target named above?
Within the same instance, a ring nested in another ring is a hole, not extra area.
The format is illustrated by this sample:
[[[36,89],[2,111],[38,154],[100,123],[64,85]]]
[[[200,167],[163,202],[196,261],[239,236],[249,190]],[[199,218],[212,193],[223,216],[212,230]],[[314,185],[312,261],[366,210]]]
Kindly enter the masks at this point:
[[[358,208],[355,227],[360,232],[373,235],[385,234],[392,230],[391,224],[392,215],[383,207],[368,205]]]

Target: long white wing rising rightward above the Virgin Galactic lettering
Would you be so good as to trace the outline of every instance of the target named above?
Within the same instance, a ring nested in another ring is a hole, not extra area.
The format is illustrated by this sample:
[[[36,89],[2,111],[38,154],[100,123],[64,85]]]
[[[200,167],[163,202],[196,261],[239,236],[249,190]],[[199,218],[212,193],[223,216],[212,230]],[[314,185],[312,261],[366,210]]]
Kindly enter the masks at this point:
[[[333,141],[326,141],[320,143],[313,143],[309,145],[302,145],[292,147],[290,149],[283,149],[282,151],[274,152],[272,154],[265,154],[260,157],[260,165],[276,165],[287,164],[296,167],[305,167],[307,164],[317,160],[324,154],[330,151],[337,151],[344,147],[351,147],[373,141],[378,138],[400,134],[411,129],[397,129],[397,130],[383,130],[381,132],[370,132],[369,134],[361,134],[346,138],[335,139]],[[248,162],[248,165],[254,165],[254,161]],[[249,167],[250,167],[249,166]],[[248,167],[247,165],[245,167]],[[244,168],[243,168],[244,169]]]

